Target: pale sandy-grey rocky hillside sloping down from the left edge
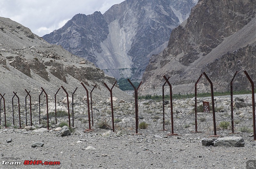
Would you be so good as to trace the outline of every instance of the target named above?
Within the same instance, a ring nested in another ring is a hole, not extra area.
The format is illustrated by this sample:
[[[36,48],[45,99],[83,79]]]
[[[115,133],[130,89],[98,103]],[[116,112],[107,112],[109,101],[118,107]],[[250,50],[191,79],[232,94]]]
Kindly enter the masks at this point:
[[[54,98],[61,85],[69,95],[78,87],[75,96],[81,99],[86,95],[81,81],[89,90],[97,84],[93,91],[94,99],[104,100],[109,95],[103,83],[113,84],[115,79],[105,76],[92,62],[69,53],[61,46],[49,44],[9,18],[0,17],[0,93],[6,93],[6,99],[12,98],[12,91],[23,98],[27,89],[31,91],[33,100],[38,100],[41,87],[50,98]],[[118,88],[113,90],[117,98],[125,99],[125,93]],[[62,90],[61,94],[65,96]]]

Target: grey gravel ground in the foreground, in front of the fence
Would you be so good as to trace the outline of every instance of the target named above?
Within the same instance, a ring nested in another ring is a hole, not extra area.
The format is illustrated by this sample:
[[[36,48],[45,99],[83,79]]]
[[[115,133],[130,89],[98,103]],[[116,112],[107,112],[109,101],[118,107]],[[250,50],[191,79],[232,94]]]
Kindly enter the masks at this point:
[[[244,133],[233,134],[243,136],[244,147],[205,147],[201,140],[208,136],[204,133],[167,136],[169,131],[143,135],[119,131],[104,135],[107,131],[80,130],[81,135],[76,135],[76,129],[75,134],[60,137],[52,130],[1,129],[0,168],[246,168],[256,155],[253,137]],[[9,138],[12,142],[7,143]],[[34,142],[44,146],[32,148]],[[88,146],[95,150],[86,150]],[[3,165],[3,160],[60,161],[60,165]]]

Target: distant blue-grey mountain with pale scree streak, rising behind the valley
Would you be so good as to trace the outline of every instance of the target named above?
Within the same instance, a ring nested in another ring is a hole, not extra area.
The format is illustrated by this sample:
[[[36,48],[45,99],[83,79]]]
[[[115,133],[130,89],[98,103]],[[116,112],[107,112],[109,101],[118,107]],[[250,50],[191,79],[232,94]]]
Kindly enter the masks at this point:
[[[126,0],[103,15],[77,14],[43,38],[92,61],[116,78],[141,79],[152,54],[161,52],[173,28],[197,0]]]

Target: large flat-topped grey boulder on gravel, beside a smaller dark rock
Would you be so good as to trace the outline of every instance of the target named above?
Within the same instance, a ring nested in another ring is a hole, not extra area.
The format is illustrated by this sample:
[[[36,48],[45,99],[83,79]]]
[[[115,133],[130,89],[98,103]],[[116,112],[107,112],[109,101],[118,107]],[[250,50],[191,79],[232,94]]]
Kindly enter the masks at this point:
[[[242,137],[222,137],[213,142],[214,147],[244,147],[244,139]]]

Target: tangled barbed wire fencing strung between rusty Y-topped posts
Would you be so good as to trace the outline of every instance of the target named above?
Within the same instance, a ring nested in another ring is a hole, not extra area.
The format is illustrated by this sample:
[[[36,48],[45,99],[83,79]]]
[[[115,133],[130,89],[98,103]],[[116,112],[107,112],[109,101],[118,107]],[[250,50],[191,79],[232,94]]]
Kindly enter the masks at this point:
[[[171,133],[171,106],[173,130],[177,134],[193,133],[196,130],[207,135],[255,132],[254,95],[252,93],[238,93],[241,90],[252,91],[252,87],[244,74],[243,72],[238,72],[236,77],[234,76],[235,78],[233,78],[233,106],[231,105],[230,95],[213,97],[200,95],[206,92],[211,93],[211,85],[206,79],[201,79],[196,85],[198,94],[196,100],[195,97],[184,98],[184,95],[179,94],[175,94],[176,97],[170,100],[170,95],[168,95],[170,90],[167,89],[167,85],[165,86],[166,91],[164,95],[168,96],[165,96],[164,102],[162,96],[155,97],[154,99],[138,100],[138,133],[155,133],[163,129]],[[74,91],[68,91],[68,93],[74,94],[76,89]],[[191,88],[191,90],[193,91],[195,88]],[[226,90],[230,90],[229,84],[226,85]],[[70,127],[74,126],[79,130],[88,129],[90,125],[94,130],[113,129],[110,99],[101,101],[94,101],[92,99],[92,103],[89,102],[89,114],[91,115],[89,120],[87,97],[82,99],[77,97],[74,100],[71,95],[67,97],[61,88],[55,94],[56,99],[50,98],[48,103],[46,95],[43,93],[33,102],[30,102],[28,98],[24,102],[25,97],[21,98],[15,92],[13,94],[12,104],[10,102],[4,103],[4,97],[6,96],[1,94],[0,122],[3,127],[20,128],[32,124],[36,127],[49,127],[51,129],[58,126],[62,127],[63,125],[69,126],[70,123]],[[112,99],[115,131],[134,133],[136,130],[135,102],[127,102],[115,97]],[[207,103],[207,110],[205,110],[205,102]],[[212,106],[212,103],[214,103],[214,106]],[[30,123],[30,119],[32,119],[32,123]],[[49,124],[47,121],[49,121]]]

